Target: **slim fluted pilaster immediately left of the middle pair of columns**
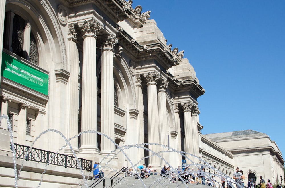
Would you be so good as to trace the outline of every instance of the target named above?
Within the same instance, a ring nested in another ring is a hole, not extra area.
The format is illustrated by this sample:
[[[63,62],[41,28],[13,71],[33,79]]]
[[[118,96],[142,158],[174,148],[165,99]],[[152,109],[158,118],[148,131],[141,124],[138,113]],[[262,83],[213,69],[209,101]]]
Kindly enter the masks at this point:
[[[138,143],[142,144],[144,143],[144,118],[143,118],[143,86],[141,85],[141,75],[136,76],[136,90],[137,90],[137,97],[138,97],[138,128],[139,128],[139,136],[138,136]],[[144,149],[139,149],[139,159],[144,158]]]

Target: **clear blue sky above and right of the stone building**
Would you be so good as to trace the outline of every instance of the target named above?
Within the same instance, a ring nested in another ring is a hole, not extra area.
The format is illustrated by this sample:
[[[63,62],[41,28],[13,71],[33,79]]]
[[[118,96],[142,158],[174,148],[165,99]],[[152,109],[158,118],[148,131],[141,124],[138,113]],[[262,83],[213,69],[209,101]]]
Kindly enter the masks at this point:
[[[206,90],[202,134],[252,129],[285,156],[285,1],[133,0]]]

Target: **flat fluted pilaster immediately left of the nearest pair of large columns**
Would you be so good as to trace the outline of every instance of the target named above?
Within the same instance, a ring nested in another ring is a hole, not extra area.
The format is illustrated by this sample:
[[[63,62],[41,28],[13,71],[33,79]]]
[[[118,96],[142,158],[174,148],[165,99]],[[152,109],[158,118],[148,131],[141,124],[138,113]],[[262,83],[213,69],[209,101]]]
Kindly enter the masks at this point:
[[[78,93],[78,74],[79,74],[79,57],[77,50],[77,33],[75,32],[74,24],[68,28],[68,68],[70,72],[68,82],[68,138],[71,138],[78,133],[78,108],[79,108],[79,93]],[[72,149],[75,153],[78,152],[77,137],[70,141]],[[72,155],[71,148],[68,146],[65,149],[66,154]]]

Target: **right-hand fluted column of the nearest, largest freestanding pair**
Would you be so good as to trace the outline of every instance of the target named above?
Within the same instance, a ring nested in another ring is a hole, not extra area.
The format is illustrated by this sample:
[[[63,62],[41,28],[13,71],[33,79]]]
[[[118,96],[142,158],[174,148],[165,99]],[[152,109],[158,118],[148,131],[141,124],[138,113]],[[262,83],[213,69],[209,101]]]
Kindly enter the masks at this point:
[[[115,140],[113,47],[116,43],[115,36],[109,34],[103,47],[101,63],[101,132],[112,140]],[[114,149],[114,143],[101,136],[100,153],[108,155]]]

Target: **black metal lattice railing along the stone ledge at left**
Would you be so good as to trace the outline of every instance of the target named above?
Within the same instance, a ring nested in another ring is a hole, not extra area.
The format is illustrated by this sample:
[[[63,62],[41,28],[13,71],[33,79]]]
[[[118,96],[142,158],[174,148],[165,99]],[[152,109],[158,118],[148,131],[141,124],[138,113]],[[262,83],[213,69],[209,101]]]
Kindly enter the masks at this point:
[[[76,168],[80,169],[80,166],[82,170],[88,170],[92,171],[92,161],[86,160],[82,158],[78,158],[79,164],[76,161],[76,158],[74,156],[54,153],[51,151],[46,151],[42,149],[32,148],[30,151],[29,146],[24,146],[20,144],[15,144],[15,153],[17,158],[25,159],[27,161],[36,161],[36,162],[42,162],[42,163],[48,163],[54,164],[57,166],[64,166],[65,168]],[[53,156],[53,157],[52,157]]]

